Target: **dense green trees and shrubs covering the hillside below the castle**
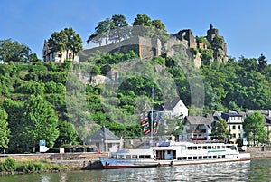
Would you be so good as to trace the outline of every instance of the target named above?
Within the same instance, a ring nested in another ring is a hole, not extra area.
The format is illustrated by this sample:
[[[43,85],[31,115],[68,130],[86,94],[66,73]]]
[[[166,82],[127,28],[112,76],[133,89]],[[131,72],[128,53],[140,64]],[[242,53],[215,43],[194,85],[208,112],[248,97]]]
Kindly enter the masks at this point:
[[[116,18],[123,17],[112,16],[113,22],[117,22]],[[142,24],[139,20],[144,18],[137,16],[134,24]],[[147,21],[150,26],[164,29],[161,21]],[[88,41],[100,43],[95,39],[96,34],[91,34]],[[27,46],[10,39],[0,41],[0,56],[5,62],[0,63],[0,124],[3,126],[0,148],[9,153],[34,151],[40,139],[45,139],[49,148],[81,144],[103,125],[119,137],[143,136],[138,108],[153,99],[154,107],[158,107],[164,103],[165,95],[170,98],[177,94],[190,109],[190,115],[199,114],[191,105],[191,85],[183,72],[185,65],[180,66],[173,57],[140,60],[130,51],[96,53],[89,57],[89,64],[45,63]],[[91,79],[82,83],[78,79],[86,72],[88,77],[107,76],[107,66],[114,68],[122,63],[128,67],[131,60],[140,60],[135,71],[144,72],[147,77],[124,69],[119,74],[125,79],[117,89],[112,89],[116,85],[91,84]],[[166,79],[163,74],[157,76],[157,65],[168,73]],[[271,65],[263,54],[258,58],[229,58],[225,63],[205,62],[198,71],[204,86],[201,114],[214,110],[271,109]],[[175,92],[173,84],[177,88]],[[173,130],[168,132],[171,134]]]

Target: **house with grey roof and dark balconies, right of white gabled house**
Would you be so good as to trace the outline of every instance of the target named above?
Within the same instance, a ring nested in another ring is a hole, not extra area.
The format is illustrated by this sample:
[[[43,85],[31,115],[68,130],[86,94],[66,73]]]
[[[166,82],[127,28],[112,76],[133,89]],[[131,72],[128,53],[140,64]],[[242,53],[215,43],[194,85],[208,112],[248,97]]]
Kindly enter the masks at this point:
[[[180,139],[209,140],[214,121],[210,116],[186,116]]]

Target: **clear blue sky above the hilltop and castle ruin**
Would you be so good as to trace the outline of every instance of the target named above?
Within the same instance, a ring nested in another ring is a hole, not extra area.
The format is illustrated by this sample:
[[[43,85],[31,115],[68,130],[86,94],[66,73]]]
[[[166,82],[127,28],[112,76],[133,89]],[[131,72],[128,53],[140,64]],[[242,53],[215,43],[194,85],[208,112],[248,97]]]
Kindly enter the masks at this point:
[[[55,31],[71,27],[86,45],[99,21],[123,14],[129,24],[136,14],[160,19],[170,33],[190,28],[204,36],[210,24],[220,30],[229,56],[271,60],[271,1],[261,0],[2,0],[0,40],[26,44],[42,58],[42,46]]]

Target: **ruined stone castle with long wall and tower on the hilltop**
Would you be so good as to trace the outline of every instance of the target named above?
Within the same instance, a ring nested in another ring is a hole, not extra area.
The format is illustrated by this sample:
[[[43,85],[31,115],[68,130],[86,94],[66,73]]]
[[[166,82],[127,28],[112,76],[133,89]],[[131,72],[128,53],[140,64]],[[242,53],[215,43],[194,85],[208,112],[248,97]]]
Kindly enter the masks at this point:
[[[219,30],[213,28],[207,30],[206,36],[194,36],[191,29],[184,29],[176,34],[171,34],[175,42],[184,45],[192,53],[196,67],[202,63],[209,64],[213,61],[228,62],[227,43],[223,36],[220,36]],[[79,62],[86,62],[90,53],[127,53],[133,50],[141,59],[150,59],[154,56],[170,56],[172,51],[167,49],[169,43],[161,43],[157,37],[148,38],[134,36],[119,43],[110,43],[91,49],[85,49],[79,56]],[[167,51],[166,51],[167,50]]]

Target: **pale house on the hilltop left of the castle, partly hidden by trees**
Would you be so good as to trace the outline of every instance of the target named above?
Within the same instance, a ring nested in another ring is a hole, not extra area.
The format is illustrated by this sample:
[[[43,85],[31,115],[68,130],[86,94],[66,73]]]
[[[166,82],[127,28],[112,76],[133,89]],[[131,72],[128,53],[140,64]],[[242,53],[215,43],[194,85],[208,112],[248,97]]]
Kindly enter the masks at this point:
[[[73,58],[74,57],[74,58]],[[79,62],[79,57],[77,55],[73,56],[73,53],[69,50],[68,55],[66,51],[57,52],[49,43],[45,40],[42,49],[42,62],[55,62],[63,63],[65,60],[73,60],[73,62]]]

